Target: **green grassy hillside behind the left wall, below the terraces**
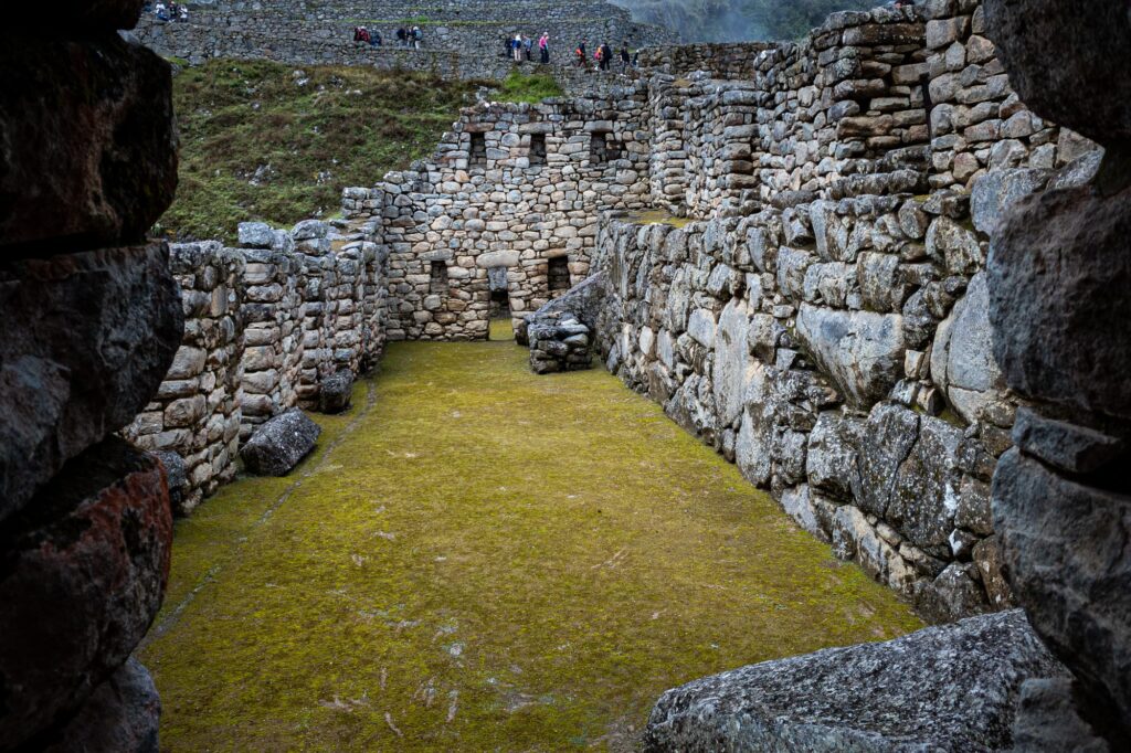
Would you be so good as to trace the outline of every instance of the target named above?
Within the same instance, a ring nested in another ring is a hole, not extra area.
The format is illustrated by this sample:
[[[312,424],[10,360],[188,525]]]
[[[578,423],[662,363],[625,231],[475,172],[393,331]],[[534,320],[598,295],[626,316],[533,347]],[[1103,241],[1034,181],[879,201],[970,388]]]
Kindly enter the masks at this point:
[[[287,225],[330,216],[343,188],[371,185],[430,155],[481,84],[268,61],[187,68],[174,79],[180,187],[158,230],[179,240],[230,241],[250,219]],[[554,89],[552,79],[508,79],[500,96]]]

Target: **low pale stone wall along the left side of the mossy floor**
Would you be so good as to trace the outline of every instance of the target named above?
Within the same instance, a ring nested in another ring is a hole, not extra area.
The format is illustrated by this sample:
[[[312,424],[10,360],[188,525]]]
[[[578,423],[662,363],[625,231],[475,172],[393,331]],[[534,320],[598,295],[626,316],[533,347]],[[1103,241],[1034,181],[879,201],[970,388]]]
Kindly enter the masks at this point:
[[[318,408],[319,384],[369,370],[385,346],[385,258],[361,236],[331,240],[245,224],[247,248],[171,246],[184,339],[153,401],[124,435],[185,465],[178,512],[235,474],[240,442],[286,408]]]

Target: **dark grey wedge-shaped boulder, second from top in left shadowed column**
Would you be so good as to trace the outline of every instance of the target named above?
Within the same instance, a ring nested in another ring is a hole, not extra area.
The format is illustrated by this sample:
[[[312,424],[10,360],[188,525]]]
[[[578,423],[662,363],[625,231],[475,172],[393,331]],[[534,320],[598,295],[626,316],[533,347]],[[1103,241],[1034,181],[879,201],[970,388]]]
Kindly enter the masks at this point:
[[[0,520],[157,391],[184,327],[164,244],[0,265]]]

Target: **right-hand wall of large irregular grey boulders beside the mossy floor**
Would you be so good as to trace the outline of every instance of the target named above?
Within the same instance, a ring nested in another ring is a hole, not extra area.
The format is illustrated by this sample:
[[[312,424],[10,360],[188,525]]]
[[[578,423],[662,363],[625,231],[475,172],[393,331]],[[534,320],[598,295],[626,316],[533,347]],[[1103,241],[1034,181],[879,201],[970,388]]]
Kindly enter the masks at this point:
[[[956,194],[612,218],[595,261],[608,369],[939,621],[1010,604],[988,484],[1015,404],[967,213]]]

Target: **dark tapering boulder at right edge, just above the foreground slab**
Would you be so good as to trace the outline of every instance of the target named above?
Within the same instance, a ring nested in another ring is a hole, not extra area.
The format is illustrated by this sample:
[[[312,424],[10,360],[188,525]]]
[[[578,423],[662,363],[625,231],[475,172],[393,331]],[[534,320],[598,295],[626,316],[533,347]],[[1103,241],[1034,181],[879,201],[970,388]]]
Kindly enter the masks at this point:
[[[1119,473],[1125,467],[1119,464]],[[1033,626],[1098,713],[1131,730],[1131,495],[1070,481],[1020,449],[993,481],[994,528]]]

